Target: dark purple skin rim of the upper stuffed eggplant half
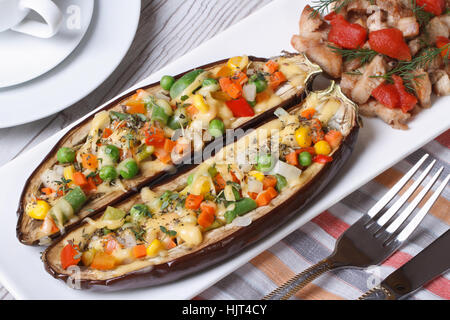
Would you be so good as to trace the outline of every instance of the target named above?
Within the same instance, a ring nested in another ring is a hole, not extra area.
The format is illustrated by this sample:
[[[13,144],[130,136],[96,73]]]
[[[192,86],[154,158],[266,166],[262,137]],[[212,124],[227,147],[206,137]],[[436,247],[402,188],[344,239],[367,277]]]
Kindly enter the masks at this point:
[[[293,53],[288,53],[288,52],[283,52],[283,56],[285,57],[292,57],[292,56],[297,56],[299,54],[293,54]],[[261,61],[261,62],[265,62],[268,61],[268,58],[259,58],[259,57],[254,57],[254,56],[249,56],[249,59],[251,61]],[[220,61],[216,61],[216,62],[212,62],[209,64],[206,64],[204,66],[200,66],[200,67],[196,67],[195,69],[191,69],[188,70],[186,72],[183,72],[177,76],[175,76],[175,79],[179,79],[181,78],[183,75],[196,70],[196,69],[208,69],[211,67],[214,67],[215,65],[219,65],[219,64],[223,64],[226,63],[228,61],[228,59],[223,59]],[[312,73],[308,79],[308,81],[305,83],[304,89],[303,91],[299,91],[297,92],[293,97],[291,97],[290,99],[287,99],[285,101],[283,101],[280,105],[267,110],[265,112],[263,112],[262,114],[256,116],[255,118],[247,121],[246,123],[244,123],[243,125],[239,126],[238,128],[243,129],[244,131],[253,128],[257,125],[259,125],[262,121],[264,121],[266,118],[269,118],[272,116],[273,111],[276,108],[288,108],[291,107],[293,105],[296,105],[298,103],[300,103],[304,97],[305,97],[305,92],[308,90],[311,90],[312,88],[312,80],[314,79],[314,77],[317,75],[316,73]],[[139,89],[150,89],[150,88],[155,88],[159,86],[159,82],[141,87]],[[137,89],[136,89],[137,90]],[[110,102],[109,104],[107,104],[106,106],[104,106],[102,109],[98,110],[96,113],[103,111],[103,110],[109,110],[113,107],[115,107],[118,103],[120,103],[121,101],[128,99],[129,97],[131,97],[136,90],[133,90],[121,97],[118,97],[117,99],[115,99],[114,101]],[[32,246],[37,246],[37,245],[42,245],[40,244],[40,240],[39,239],[33,239],[30,234],[31,234],[31,230],[32,228],[36,228],[38,226],[37,223],[34,223],[34,221],[32,221],[31,218],[29,218],[26,213],[25,213],[25,207],[27,205],[26,202],[26,197],[27,195],[31,192],[32,188],[32,184],[33,184],[33,179],[36,178],[36,176],[38,175],[38,173],[40,172],[40,170],[42,170],[43,168],[48,167],[48,164],[53,164],[55,162],[56,159],[56,153],[58,151],[58,149],[60,147],[62,147],[66,142],[67,139],[70,138],[70,136],[76,132],[78,129],[80,129],[81,127],[87,125],[94,117],[94,115],[96,114],[92,114],[90,117],[86,118],[85,120],[83,120],[82,122],[80,122],[79,124],[77,124],[75,127],[73,127],[70,131],[68,131],[57,143],[56,145],[52,148],[52,150],[45,156],[45,158],[42,160],[42,162],[38,165],[38,167],[33,171],[33,173],[30,175],[30,177],[27,179],[27,181],[25,182],[24,185],[24,189],[22,190],[22,194],[20,196],[20,201],[19,201],[19,206],[17,209],[17,215],[18,215],[18,220],[17,220],[17,225],[16,225],[16,236],[18,238],[18,240],[24,244],[24,245],[32,245]],[[69,138],[68,138],[69,137]],[[207,145],[205,145],[206,147]],[[52,162],[53,161],[53,162]],[[192,159],[191,163],[195,163],[194,162],[194,158]],[[163,181],[167,181],[170,180],[174,177],[174,175],[179,175],[189,169],[192,168],[191,165],[186,165],[186,164],[179,164],[179,165],[175,165],[176,168],[176,173],[168,173],[167,171],[162,171],[159,172],[156,175],[150,176],[148,178],[146,178],[145,180],[143,180],[141,183],[139,183],[138,185],[136,185],[133,188],[130,188],[129,190],[127,190],[127,192],[121,194],[120,196],[114,198],[112,201],[107,201],[106,203],[102,204],[99,207],[96,207],[94,210],[92,210],[89,214],[83,216],[79,221],[73,223],[73,224],[69,224],[66,226],[65,231],[69,232],[70,230],[73,230],[74,228],[76,228],[79,224],[81,224],[82,220],[86,217],[93,217],[95,215],[97,215],[98,213],[104,211],[106,209],[106,207],[108,206],[113,206],[116,203],[119,203],[123,200],[125,200],[126,198],[136,194],[139,192],[139,189],[144,187],[144,186],[150,186],[152,187],[155,184],[160,184]],[[52,235],[49,236],[49,240],[53,241],[57,238],[59,238],[61,236],[60,232],[56,232]],[[50,242],[49,241],[49,242]]]

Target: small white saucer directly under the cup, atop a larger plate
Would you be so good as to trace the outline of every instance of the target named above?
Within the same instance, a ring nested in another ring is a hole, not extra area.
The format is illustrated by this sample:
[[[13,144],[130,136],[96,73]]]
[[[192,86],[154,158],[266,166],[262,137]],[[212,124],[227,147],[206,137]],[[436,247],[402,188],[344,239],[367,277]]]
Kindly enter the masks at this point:
[[[10,30],[0,33],[0,88],[24,83],[53,69],[83,39],[92,19],[94,0],[55,3],[63,13],[61,29],[55,36],[41,39]]]

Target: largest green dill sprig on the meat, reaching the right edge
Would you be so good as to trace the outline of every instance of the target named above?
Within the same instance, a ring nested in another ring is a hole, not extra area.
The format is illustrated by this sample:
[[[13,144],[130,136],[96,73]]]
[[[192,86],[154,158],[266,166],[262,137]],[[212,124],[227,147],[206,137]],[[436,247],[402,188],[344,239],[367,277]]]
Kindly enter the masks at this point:
[[[417,69],[423,68],[429,63],[431,63],[434,58],[440,55],[445,50],[448,50],[446,56],[444,57],[445,61],[449,56],[449,47],[450,44],[443,46],[442,48],[427,48],[423,51],[421,55],[414,57],[411,61],[399,61],[398,64],[389,72],[381,75],[381,76],[371,76],[371,78],[384,78],[387,82],[392,83],[393,75],[397,75],[403,80],[403,84],[407,90],[410,92],[414,92],[414,84],[416,79],[422,77],[423,75],[416,75],[414,72]]]

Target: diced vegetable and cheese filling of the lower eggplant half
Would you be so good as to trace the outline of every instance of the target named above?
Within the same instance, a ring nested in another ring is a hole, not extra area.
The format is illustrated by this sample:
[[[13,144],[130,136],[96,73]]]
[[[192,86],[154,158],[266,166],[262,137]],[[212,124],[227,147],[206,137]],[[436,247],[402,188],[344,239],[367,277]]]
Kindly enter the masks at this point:
[[[165,256],[180,245],[199,245],[206,232],[270,206],[298,183],[296,179],[303,170],[314,163],[333,161],[330,155],[341,144],[342,133],[324,126],[314,114],[301,112],[299,121],[294,122],[293,144],[280,142],[285,152],[278,158],[260,150],[255,163],[245,170],[235,164],[206,162],[187,177],[182,190],[156,194],[144,188],[143,202],[128,212],[108,207],[101,218],[104,224],[84,237],[86,243],[64,247],[62,267],[81,263],[92,269],[111,270],[136,260]],[[318,136],[322,139],[317,140]],[[162,140],[156,141],[153,143],[162,145]]]

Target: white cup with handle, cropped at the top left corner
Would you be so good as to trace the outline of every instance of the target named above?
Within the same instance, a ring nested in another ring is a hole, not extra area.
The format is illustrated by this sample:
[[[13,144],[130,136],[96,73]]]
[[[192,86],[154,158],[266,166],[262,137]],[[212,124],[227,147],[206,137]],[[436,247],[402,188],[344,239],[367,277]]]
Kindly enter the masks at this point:
[[[36,11],[45,23],[27,19]],[[34,37],[50,38],[59,30],[63,15],[51,0],[0,0],[0,32],[14,30]]]

